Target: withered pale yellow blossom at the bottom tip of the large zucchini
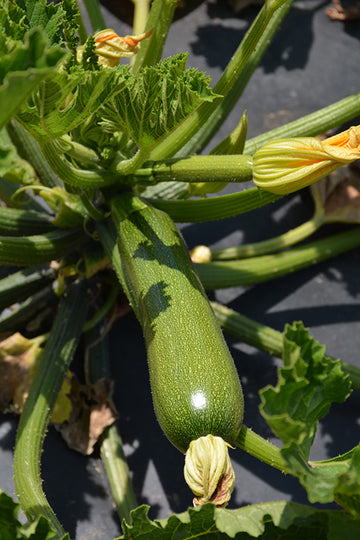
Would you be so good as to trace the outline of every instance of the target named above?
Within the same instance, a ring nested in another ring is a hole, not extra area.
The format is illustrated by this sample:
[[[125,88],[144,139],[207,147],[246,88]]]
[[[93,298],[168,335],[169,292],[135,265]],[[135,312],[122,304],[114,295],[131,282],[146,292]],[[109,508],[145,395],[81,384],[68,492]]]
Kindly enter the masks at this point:
[[[185,456],[184,476],[196,495],[194,506],[212,502],[226,506],[234,489],[235,474],[227,444],[221,437],[206,435],[190,443]]]

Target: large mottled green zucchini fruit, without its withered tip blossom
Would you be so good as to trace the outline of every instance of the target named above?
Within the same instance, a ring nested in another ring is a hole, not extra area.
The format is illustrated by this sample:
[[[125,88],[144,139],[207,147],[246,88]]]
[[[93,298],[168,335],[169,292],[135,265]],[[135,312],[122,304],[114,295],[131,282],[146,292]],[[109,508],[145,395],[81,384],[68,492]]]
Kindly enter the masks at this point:
[[[137,199],[138,200],[138,199]],[[147,346],[155,413],[185,452],[211,433],[236,439],[243,394],[184,242],[169,216],[147,207],[118,213],[119,251]]]

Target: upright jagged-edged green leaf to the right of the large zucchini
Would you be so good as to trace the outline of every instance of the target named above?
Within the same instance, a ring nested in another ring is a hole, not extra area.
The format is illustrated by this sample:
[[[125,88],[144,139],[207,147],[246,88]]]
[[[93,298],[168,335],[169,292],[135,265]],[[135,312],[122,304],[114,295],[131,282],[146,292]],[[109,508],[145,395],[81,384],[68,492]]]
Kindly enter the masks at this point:
[[[296,444],[307,459],[318,421],[331,403],[350,395],[350,380],[340,360],[325,355],[325,348],[309,335],[301,322],[284,332],[284,367],[278,369],[276,387],[260,392],[260,412],[285,445]]]

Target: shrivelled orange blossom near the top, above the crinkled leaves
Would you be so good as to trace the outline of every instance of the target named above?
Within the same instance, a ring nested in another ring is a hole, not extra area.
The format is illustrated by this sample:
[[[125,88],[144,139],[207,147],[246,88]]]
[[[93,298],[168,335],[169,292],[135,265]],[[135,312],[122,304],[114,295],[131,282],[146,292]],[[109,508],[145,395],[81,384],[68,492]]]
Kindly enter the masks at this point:
[[[105,67],[116,67],[121,58],[130,58],[139,49],[141,41],[151,36],[152,30],[138,36],[120,37],[114,30],[101,30],[94,35],[95,53],[99,63]],[[83,47],[78,48],[78,58],[81,58]]]

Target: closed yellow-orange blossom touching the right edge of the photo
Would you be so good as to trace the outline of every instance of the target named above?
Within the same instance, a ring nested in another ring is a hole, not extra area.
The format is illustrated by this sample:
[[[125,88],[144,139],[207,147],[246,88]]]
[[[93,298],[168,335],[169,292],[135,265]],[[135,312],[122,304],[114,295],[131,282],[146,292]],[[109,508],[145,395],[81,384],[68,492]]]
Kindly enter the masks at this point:
[[[360,158],[360,125],[320,141],[315,137],[279,139],[254,155],[254,183],[286,195]]]

